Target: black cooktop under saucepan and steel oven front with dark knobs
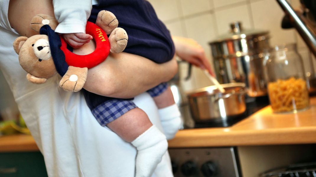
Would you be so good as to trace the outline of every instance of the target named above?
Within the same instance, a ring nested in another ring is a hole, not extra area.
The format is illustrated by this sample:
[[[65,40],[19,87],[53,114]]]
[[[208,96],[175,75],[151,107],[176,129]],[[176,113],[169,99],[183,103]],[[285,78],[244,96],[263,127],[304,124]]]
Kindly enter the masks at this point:
[[[230,127],[269,105],[268,97],[246,98],[246,111],[220,122],[196,123],[189,108],[180,107],[185,119],[185,129]],[[236,147],[169,148],[174,177],[241,177]]]

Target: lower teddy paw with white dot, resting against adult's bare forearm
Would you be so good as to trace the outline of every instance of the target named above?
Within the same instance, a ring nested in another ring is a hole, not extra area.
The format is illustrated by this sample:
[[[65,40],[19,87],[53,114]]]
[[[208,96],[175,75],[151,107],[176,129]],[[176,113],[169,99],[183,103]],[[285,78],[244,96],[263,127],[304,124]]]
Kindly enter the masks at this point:
[[[65,91],[77,92],[82,89],[83,85],[84,82],[80,82],[77,75],[70,75],[69,78],[63,77],[59,82],[59,86]]]

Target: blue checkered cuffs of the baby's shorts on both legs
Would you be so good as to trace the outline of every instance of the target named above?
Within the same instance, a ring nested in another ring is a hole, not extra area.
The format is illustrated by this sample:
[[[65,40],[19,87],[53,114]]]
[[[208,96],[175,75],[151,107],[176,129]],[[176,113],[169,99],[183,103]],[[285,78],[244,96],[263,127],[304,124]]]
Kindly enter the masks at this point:
[[[166,91],[167,88],[168,84],[162,83],[147,92],[151,97],[156,97]],[[137,106],[131,100],[113,98],[94,108],[92,114],[101,126],[106,126],[106,124],[121,117],[123,114],[134,108],[137,108]]]

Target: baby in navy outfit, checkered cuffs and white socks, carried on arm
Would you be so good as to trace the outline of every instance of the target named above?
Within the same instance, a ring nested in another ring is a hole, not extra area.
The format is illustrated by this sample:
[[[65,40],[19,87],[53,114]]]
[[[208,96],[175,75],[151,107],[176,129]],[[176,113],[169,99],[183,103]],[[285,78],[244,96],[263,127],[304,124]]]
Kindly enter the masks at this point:
[[[112,11],[117,16],[120,27],[129,35],[124,52],[149,58],[156,63],[171,60],[174,57],[173,41],[151,5],[143,0],[124,1],[124,6],[120,4],[123,2],[118,0],[100,1],[92,9],[89,21],[95,23],[101,10]],[[90,15],[91,2],[53,0],[53,5],[59,22],[55,31],[62,34],[71,47],[81,47],[92,39],[82,28]],[[181,126],[181,118],[170,87],[163,83],[150,89],[148,93],[159,109],[167,139],[173,138]],[[167,151],[166,136],[151,124],[146,113],[137,108],[132,99],[103,97],[86,90],[83,90],[83,94],[100,125],[109,127],[137,148],[136,176],[150,176]]]

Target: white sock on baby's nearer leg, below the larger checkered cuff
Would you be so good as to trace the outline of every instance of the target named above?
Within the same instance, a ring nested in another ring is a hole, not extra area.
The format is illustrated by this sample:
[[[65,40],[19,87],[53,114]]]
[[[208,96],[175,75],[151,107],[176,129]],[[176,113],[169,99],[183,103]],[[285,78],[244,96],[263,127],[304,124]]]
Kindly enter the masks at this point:
[[[135,177],[151,176],[167,151],[166,136],[153,125],[131,143],[137,148]]]

